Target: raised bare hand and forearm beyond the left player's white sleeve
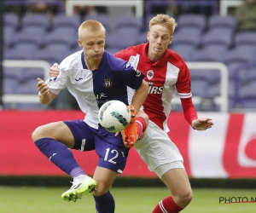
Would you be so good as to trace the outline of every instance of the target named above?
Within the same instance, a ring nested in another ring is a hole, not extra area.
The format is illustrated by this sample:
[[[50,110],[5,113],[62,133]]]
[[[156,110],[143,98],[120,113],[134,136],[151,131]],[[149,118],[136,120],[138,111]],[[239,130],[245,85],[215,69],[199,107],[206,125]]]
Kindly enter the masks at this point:
[[[49,91],[48,84],[41,78],[38,78],[38,91],[39,101],[42,104],[49,104],[55,99],[56,95]]]

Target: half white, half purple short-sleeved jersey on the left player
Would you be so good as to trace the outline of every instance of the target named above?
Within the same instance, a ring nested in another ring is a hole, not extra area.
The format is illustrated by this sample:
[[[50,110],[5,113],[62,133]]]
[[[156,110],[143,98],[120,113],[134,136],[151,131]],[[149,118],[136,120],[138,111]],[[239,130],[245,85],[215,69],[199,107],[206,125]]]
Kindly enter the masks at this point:
[[[128,104],[128,87],[138,89],[143,82],[143,73],[130,63],[117,59],[107,51],[102,55],[98,69],[90,71],[84,62],[84,51],[68,56],[61,62],[60,75],[49,78],[49,90],[55,95],[67,89],[86,114],[84,122],[93,128],[98,126],[97,114],[102,105],[111,100]]]

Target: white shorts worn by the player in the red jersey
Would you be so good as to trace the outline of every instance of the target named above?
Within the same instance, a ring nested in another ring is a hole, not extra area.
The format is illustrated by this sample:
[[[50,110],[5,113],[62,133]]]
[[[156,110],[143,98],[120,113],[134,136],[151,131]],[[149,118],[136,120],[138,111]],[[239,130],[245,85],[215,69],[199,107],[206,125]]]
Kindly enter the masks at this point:
[[[148,170],[161,178],[166,171],[184,168],[183,157],[164,130],[149,121],[147,130],[135,146],[137,153],[148,164]]]

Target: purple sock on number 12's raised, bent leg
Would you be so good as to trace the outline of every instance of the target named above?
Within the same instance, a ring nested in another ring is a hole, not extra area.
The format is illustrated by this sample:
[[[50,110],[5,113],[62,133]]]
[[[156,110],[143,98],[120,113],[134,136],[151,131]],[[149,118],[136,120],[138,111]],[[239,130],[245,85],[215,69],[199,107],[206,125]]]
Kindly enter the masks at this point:
[[[42,138],[35,141],[35,145],[53,164],[68,175],[72,170],[80,168],[73,153],[61,142],[51,138]]]

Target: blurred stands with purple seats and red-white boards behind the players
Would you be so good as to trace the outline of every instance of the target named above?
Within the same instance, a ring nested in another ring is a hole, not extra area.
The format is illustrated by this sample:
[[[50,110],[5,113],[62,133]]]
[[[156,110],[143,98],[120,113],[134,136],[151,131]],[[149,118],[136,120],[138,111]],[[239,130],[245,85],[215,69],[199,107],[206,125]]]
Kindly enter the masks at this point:
[[[79,50],[79,24],[100,20],[107,29],[106,49],[115,53],[147,42],[148,20],[166,13],[177,20],[170,49],[188,63],[195,107],[215,124],[191,130],[180,101],[173,101],[169,135],[183,154],[192,187],[256,188],[256,31],[237,31],[234,11],[242,2],[1,1],[0,186],[69,186],[70,178],[33,146],[31,133],[41,124],[83,118],[67,91],[42,107],[36,87],[36,78],[48,78],[54,62]],[[92,175],[96,154],[74,155]],[[114,185],[131,186],[164,187],[135,150]]]

